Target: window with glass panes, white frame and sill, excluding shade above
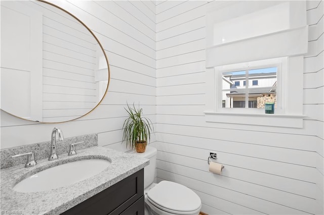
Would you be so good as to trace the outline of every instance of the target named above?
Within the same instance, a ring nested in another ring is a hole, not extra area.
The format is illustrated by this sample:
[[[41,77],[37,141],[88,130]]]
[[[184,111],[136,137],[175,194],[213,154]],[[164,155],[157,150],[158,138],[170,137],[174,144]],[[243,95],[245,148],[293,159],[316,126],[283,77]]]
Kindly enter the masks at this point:
[[[302,56],[294,56],[207,69],[206,121],[303,128],[303,61]],[[270,76],[275,74],[272,82]],[[239,80],[246,85],[235,86]],[[261,108],[266,99],[275,100],[274,114]]]

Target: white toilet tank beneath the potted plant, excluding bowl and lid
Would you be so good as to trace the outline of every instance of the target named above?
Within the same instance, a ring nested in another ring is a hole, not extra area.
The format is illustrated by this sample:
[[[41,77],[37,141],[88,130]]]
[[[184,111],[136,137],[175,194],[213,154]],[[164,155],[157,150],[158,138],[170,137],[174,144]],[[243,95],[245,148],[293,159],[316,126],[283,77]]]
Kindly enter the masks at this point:
[[[146,146],[146,150],[143,153],[137,153],[135,151],[132,151],[130,153],[137,156],[145,157],[150,160],[150,164],[144,168],[144,189],[145,189],[154,182],[157,150],[154,147]]]

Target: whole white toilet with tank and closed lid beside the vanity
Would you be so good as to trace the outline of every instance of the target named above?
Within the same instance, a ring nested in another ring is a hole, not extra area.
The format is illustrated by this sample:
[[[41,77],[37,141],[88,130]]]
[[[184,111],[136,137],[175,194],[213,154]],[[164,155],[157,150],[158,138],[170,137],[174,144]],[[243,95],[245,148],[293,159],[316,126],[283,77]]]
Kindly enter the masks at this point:
[[[156,148],[147,146],[144,153],[131,153],[150,159],[150,164],[144,168],[145,215],[199,214],[201,200],[191,189],[171,181],[153,183]]]

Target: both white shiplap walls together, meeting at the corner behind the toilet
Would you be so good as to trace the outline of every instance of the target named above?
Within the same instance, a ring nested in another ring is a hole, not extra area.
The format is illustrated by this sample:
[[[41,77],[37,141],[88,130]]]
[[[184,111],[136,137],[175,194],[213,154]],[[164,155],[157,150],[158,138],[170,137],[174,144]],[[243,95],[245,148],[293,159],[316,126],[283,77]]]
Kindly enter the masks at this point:
[[[205,1],[68,1],[106,50],[109,92],[90,115],[62,124],[2,112],[1,147],[98,133],[99,144],[126,151],[124,107],[140,102],[153,121],[157,180],[193,189],[209,214],[323,213],[323,2],[307,3],[303,129],[206,123]],[[155,33],[156,32],[156,33]],[[19,134],[19,135],[17,135]],[[155,141],[156,139],[156,141]],[[222,176],[208,172],[217,152]]]

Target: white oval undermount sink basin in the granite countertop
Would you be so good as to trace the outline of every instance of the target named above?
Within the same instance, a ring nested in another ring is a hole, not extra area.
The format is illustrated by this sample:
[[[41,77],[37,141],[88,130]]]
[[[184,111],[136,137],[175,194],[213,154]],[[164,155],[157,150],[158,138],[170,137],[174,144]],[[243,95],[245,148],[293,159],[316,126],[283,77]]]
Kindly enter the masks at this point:
[[[36,173],[13,187],[18,192],[37,192],[65,187],[88,179],[110,165],[104,159],[85,159],[62,164]]]

